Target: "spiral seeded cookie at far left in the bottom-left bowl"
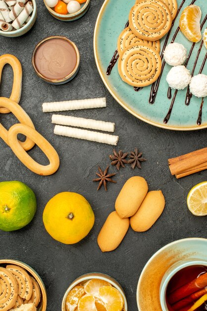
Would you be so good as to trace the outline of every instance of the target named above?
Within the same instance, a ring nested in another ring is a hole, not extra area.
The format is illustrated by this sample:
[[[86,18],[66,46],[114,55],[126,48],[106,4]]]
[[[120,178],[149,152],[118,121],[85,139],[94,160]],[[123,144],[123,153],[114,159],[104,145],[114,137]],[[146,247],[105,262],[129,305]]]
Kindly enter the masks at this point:
[[[0,267],[0,310],[10,310],[17,300],[18,288],[14,276],[5,268]]]

